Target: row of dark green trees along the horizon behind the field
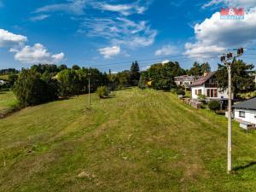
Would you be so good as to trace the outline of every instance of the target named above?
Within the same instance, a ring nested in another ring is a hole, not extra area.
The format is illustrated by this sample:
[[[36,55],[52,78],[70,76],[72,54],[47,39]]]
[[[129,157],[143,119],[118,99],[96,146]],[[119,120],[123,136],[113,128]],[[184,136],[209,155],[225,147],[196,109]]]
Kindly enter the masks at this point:
[[[233,89],[237,94],[241,91],[255,90],[252,72],[253,65],[243,61],[235,61],[232,67]],[[63,96],[73,96],[87,93],[90,78],[90,91],[94,92],[100,86],[108,90],[118,90],[130,86],[146,87],[155,90],[177,89],[174,77],[180,75],[201,76],[210,72],[211,67],[207,62],[195,62],[193,67],[184,70],[177,61],[165,64],[155,63],[147,70],[140,71],[137,61],[131,63],[130,70],[119,73],[102,73],[96,68],[67,67],[66,65],[38,64],[21,71],[3,69],[1,72],[9,74],[9,81],[14,90],[20,106],[32,106],[43,102],[53,101]],[[18,73],[19,72],[19,73]],[[90,77],[89,77],[90,76]],[[227,73],[224,65],[218,64],[218,84],[220,88],[227,87]]]

